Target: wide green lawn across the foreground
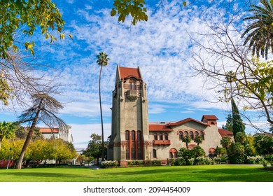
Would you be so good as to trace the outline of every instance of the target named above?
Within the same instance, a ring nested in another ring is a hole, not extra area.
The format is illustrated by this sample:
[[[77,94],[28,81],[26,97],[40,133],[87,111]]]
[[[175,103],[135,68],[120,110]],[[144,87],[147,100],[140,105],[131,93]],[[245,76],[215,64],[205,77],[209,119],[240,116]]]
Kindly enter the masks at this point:
[[[253,165],[0,169],[1,182],[273,182]]]

